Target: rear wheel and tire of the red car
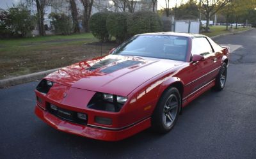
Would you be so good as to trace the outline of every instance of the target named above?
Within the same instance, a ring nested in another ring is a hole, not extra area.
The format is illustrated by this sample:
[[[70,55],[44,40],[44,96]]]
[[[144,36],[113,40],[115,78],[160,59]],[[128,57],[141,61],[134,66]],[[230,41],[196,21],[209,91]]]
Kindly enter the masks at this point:
[[[220,72],[216,77],[216,83],[215,83],[214,89],[216,91],[221,91],[225,87],[226,80],[227,80],[227,64],[223,63],[221,65]]]

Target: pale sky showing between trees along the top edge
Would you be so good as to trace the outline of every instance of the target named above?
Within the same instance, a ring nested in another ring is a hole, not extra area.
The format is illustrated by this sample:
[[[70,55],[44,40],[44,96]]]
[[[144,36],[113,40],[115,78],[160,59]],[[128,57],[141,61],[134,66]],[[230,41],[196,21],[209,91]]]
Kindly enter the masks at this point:
[[[12,4],[17,4],[21,0],[0,0],[0,8],[6,9],[8,6],[12,6]],[[182,0],[170,0],[170,8],[175,6],[175,3],[177,1],[177,4],[179,5]],[[183,0],[183,2],[186,2],[188,0]],[[157,10],[160,10],[165,6],[165,0],[158,0],[157,2]]]

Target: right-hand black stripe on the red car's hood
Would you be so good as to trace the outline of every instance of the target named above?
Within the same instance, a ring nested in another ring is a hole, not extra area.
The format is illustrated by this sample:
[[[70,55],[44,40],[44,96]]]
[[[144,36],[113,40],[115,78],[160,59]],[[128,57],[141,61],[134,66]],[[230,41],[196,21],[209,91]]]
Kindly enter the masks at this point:
[[[103,72],[103,73],[112,73],[112,72],[115,72],[117,70],[121,70],[123,68],[127,68],[129,66],[133,66],[133,65],[136,65],[136,64],[140,64],[140,63],[143,63],[143,62],[142,61],[127,60],[127,61],[115,64],[114,66],[110,66],[108,68],[105,68],[105,69],[101,70],[101,72]]]

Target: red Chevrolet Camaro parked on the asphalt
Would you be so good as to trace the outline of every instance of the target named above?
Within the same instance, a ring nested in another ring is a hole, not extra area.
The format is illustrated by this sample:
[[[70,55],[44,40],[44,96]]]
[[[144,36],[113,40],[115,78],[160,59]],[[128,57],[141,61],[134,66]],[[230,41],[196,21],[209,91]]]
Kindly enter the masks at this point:
[[[149,127],[166,133],[182,107],[223,89],[229,52],[201,34],[139,34],[107,56],[47,75],[35,90],[35,114],[92,139],[122,140]]]

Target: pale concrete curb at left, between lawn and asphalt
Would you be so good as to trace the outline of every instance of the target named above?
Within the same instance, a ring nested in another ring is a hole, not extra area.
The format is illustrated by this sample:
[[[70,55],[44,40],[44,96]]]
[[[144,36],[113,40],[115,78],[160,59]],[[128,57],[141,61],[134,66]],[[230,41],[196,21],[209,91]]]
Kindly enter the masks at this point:
[[[42,79],[49,73],[55,72],[56,70],[59,70],[59,69],[60,68],[54,68],[52,70],[47,70],[44,72],[36,72],[28,75],[20,75],[18,77],[12,77],[10,79],[3,79],[3,80],[0,80],[0,88],[15,86],[17,84],[23,84],[26,82],[31,82],[33,80]]]

